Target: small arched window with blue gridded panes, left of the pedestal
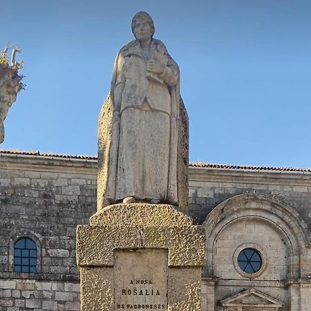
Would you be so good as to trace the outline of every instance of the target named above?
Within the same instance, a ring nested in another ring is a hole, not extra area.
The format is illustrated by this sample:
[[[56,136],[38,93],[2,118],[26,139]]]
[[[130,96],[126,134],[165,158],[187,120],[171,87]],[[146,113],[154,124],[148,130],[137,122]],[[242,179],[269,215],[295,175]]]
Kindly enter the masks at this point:
[[[20,238],[15,243],[14,272],[37,272],[37,245],[31,238]]]

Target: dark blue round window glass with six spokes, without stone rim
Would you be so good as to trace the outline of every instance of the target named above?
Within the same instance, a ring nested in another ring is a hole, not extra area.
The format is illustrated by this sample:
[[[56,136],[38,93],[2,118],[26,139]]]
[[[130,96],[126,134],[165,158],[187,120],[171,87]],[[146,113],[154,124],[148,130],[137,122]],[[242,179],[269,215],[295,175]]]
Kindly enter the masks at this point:
[[[262,265],[261,254],[254,248],[245,248],[238,254],[238,266],[245,273],[256,273]]]

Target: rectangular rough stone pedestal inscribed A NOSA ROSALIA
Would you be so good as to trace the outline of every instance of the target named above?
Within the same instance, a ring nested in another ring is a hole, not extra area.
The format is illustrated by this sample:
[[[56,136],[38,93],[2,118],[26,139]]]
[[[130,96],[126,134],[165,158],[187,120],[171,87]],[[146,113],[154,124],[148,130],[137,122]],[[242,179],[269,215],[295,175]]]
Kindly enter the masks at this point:
[[[193,225],[78,226],[82,310],[112,311],[122,309],[122,305],[129,310],[150,304],[162,310],[200,310],[204,244],[204,230]],[[152,285],[131,288],[131,280],[138,279],[149,280]],[[158,288],[159,297],[151,299],[122,296],[123,290]],[[167,301],[161,296],[163,291]]]

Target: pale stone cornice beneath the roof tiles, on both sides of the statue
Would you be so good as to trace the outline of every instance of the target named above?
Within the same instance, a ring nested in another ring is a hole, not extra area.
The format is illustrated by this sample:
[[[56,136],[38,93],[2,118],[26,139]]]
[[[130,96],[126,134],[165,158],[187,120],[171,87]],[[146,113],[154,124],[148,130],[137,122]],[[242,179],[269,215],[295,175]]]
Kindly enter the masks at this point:
[[[0,153],[0,169],[97,174],[97,160],[59,158],[16,153]],[[261,185],[299,185],[311,187],[308,171],[265,171],[262,169],[224,169],[189,167],[189,182],[229,182]]]

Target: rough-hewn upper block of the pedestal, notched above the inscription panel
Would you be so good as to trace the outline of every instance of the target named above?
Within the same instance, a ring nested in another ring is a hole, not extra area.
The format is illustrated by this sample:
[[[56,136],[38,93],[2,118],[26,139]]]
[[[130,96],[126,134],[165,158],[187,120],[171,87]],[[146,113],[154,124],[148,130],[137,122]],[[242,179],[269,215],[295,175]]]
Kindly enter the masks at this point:
[[[77,227],[77,265],[113,266],[114,249],[167,248],[169,265],[203,266],[205,232],[200,226]]]

